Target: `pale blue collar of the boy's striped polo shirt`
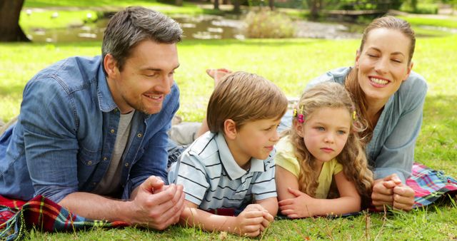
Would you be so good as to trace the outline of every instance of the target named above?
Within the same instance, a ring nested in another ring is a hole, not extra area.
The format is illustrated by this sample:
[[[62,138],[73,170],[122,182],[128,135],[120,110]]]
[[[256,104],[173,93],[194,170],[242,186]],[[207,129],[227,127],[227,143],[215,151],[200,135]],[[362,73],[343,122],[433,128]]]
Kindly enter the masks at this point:
[[[221,158],[221,163],[224,166],[224,169],[226,170],[227,175],[229,175],[229,178],[231,180],[241,178],[243,175],[246,175],[247,173],[265,171],[263,160],[258,160],[256,158],[251,158],[251,168],[249,168],[248,171],[241,168],[236,163],[235,159],[233,158],[233,155],[231,155],[229,145],[227,145],[226,139],[224,138],[224,135],[222,135],[221,133],[216,134],[216,145],[219,149],[219,158]]]

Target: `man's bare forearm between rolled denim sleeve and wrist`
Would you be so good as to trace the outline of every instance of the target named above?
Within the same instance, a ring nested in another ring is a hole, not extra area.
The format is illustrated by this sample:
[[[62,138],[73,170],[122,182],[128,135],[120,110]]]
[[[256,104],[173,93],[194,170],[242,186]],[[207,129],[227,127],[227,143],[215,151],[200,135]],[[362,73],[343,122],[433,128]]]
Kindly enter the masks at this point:
[[[92,220],[124,221],[131,223],[131,203],[113,200],[92,193],[71,193],[59,205],[81,217]]]

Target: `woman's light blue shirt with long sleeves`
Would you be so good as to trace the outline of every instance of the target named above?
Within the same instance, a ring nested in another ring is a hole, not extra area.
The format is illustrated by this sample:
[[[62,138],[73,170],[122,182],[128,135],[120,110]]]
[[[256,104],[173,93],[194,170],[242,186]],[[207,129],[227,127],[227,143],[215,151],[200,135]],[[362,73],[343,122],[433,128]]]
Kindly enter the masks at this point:
[[[308,86],[323,81],[343,84],[350,70],[343,67],[328,71],[308,83]],[[388,99],[373,130],[373,137],[366,146],[366,156],[374,168],[374,178],[396,173],[405,183],[411,175],[426,93],[425,78],[411,71],[398,91]]]

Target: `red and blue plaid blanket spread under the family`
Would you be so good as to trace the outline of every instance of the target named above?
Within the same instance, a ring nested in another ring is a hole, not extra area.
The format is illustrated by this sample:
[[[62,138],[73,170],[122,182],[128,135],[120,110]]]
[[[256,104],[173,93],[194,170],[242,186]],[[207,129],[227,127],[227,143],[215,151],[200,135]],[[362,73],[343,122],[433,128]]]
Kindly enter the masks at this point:
[[[430,205],[445,193],[456,193],[457,180],[432,170],[425,165],[414,163],[412,176],[406,184],[416,192],[414,207]],[[359,212],[342,215],[357,215]],[[340,216],[341,217],[341,216]],[[281,218],[281,217],[279,217]],[[37,196],[29,202],[10,200],[0,195],[0,238],[19,240],[31,227],[47,232],[84,230],[91,227],[125,227],[126,222],[88,220],[74,215],[55,202]]]

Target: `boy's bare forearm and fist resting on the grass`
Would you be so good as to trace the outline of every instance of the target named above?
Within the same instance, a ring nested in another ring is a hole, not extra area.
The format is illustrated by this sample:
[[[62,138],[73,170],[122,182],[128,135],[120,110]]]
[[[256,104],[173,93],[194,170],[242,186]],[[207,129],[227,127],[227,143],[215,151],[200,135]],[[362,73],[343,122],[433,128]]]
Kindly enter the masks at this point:
[[[186,202],[186,207],[181,213],[180,224],[213,231],[231,232],[241,236],[256,237],[263,230],[263,211],[246,207],[237,217],[214,215],[200,210],[193,202]]]

